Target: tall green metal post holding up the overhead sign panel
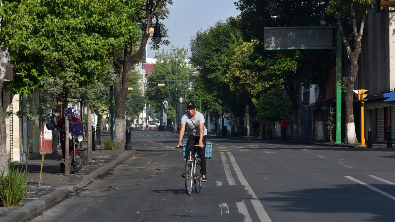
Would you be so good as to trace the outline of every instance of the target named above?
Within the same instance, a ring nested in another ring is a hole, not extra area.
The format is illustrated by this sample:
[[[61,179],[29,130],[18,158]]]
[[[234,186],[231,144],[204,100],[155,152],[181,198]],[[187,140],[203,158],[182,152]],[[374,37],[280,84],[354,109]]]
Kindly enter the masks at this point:
[[[336,41],[336,142],[335,143],[341,143],[342,92],[340,90],[340,81],[342,79],[342,41],[341,41],[339,27],[337,27],[336,38],[337,41]]]

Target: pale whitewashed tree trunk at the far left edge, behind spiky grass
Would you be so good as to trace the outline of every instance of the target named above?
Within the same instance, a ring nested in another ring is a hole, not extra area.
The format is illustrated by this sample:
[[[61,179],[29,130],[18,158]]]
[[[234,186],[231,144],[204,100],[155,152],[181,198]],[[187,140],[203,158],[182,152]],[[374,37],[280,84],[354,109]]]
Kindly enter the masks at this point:
[[[8,46],[0,45],[0,90],[3,90],[4,78],[8,67],[11,49]],[[1,94],[2,92],[0,92]],[[7,162],[7,132],[6,117],[4,115],[2,100],[0,100],[0,173],[8,175]]]

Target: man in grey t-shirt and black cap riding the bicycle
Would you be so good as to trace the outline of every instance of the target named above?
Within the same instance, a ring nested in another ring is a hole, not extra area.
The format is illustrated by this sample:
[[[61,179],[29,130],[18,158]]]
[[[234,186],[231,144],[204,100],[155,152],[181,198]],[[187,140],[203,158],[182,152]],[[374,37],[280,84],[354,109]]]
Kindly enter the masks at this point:
[[[188,103],[186,105],[186,110],[188,113],[185,113],[181,118],[181,129],[178,145],[182,146],[182,137],[184,137],[185,125],[188,125],[188,146],[193,147],[194,145],[199,145],[198,152],[200,155],[200,163],[201,163],[201,181],[207,181],[206,177],[206,149],[204,145],[206,144],[206,135],[207,130],[204,125],[205,120],[203,114],[196,111],[196,105],[194,102]],[[195,153],[196,148],[192,149],[192,153]],[[185,177],[185,173],[182,173],[182,177]]]

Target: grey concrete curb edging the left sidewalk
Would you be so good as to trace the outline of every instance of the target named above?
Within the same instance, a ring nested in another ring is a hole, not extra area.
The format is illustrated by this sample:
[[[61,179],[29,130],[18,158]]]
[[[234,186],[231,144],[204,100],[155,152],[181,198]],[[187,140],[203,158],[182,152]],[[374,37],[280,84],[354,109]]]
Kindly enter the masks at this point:
[[[117,164],[124,162],[137,152],[138,151],[128,151],[127,153],[119,155],[115,160],[100,167],[99,169],[96,169],[95,171],[84,177],[84,179],[79,184],[62,186],[61,188],[54,190],[53,192],[41,198],[38,198],[35,201],[32,201],[31,203],[24,205],[19,209],[16,209],[15,211],[12,211],[6,216],[0,218],[0,222],[21,222],[27,220],[35,214],[40,213],[40,211],[44,210],[45,208],[53,205],[54,203],[57,203],[58,201],[61,201],[64,197],[67,196],[69,192],[74,192],[75,190],[88,185],[92,181],[92,179],[97,178],[104,173],[107,173],[107,171],[117,166]]]

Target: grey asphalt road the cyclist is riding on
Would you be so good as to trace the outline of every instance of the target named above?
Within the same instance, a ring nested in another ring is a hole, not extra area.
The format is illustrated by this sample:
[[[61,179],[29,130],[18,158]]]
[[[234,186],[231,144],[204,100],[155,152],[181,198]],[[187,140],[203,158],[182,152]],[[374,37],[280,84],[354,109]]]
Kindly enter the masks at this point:
[[[395,221],[395,152],[208,140],[200,193],[185,192],[177,134],[132,131],[139,154],[29,221]]]

